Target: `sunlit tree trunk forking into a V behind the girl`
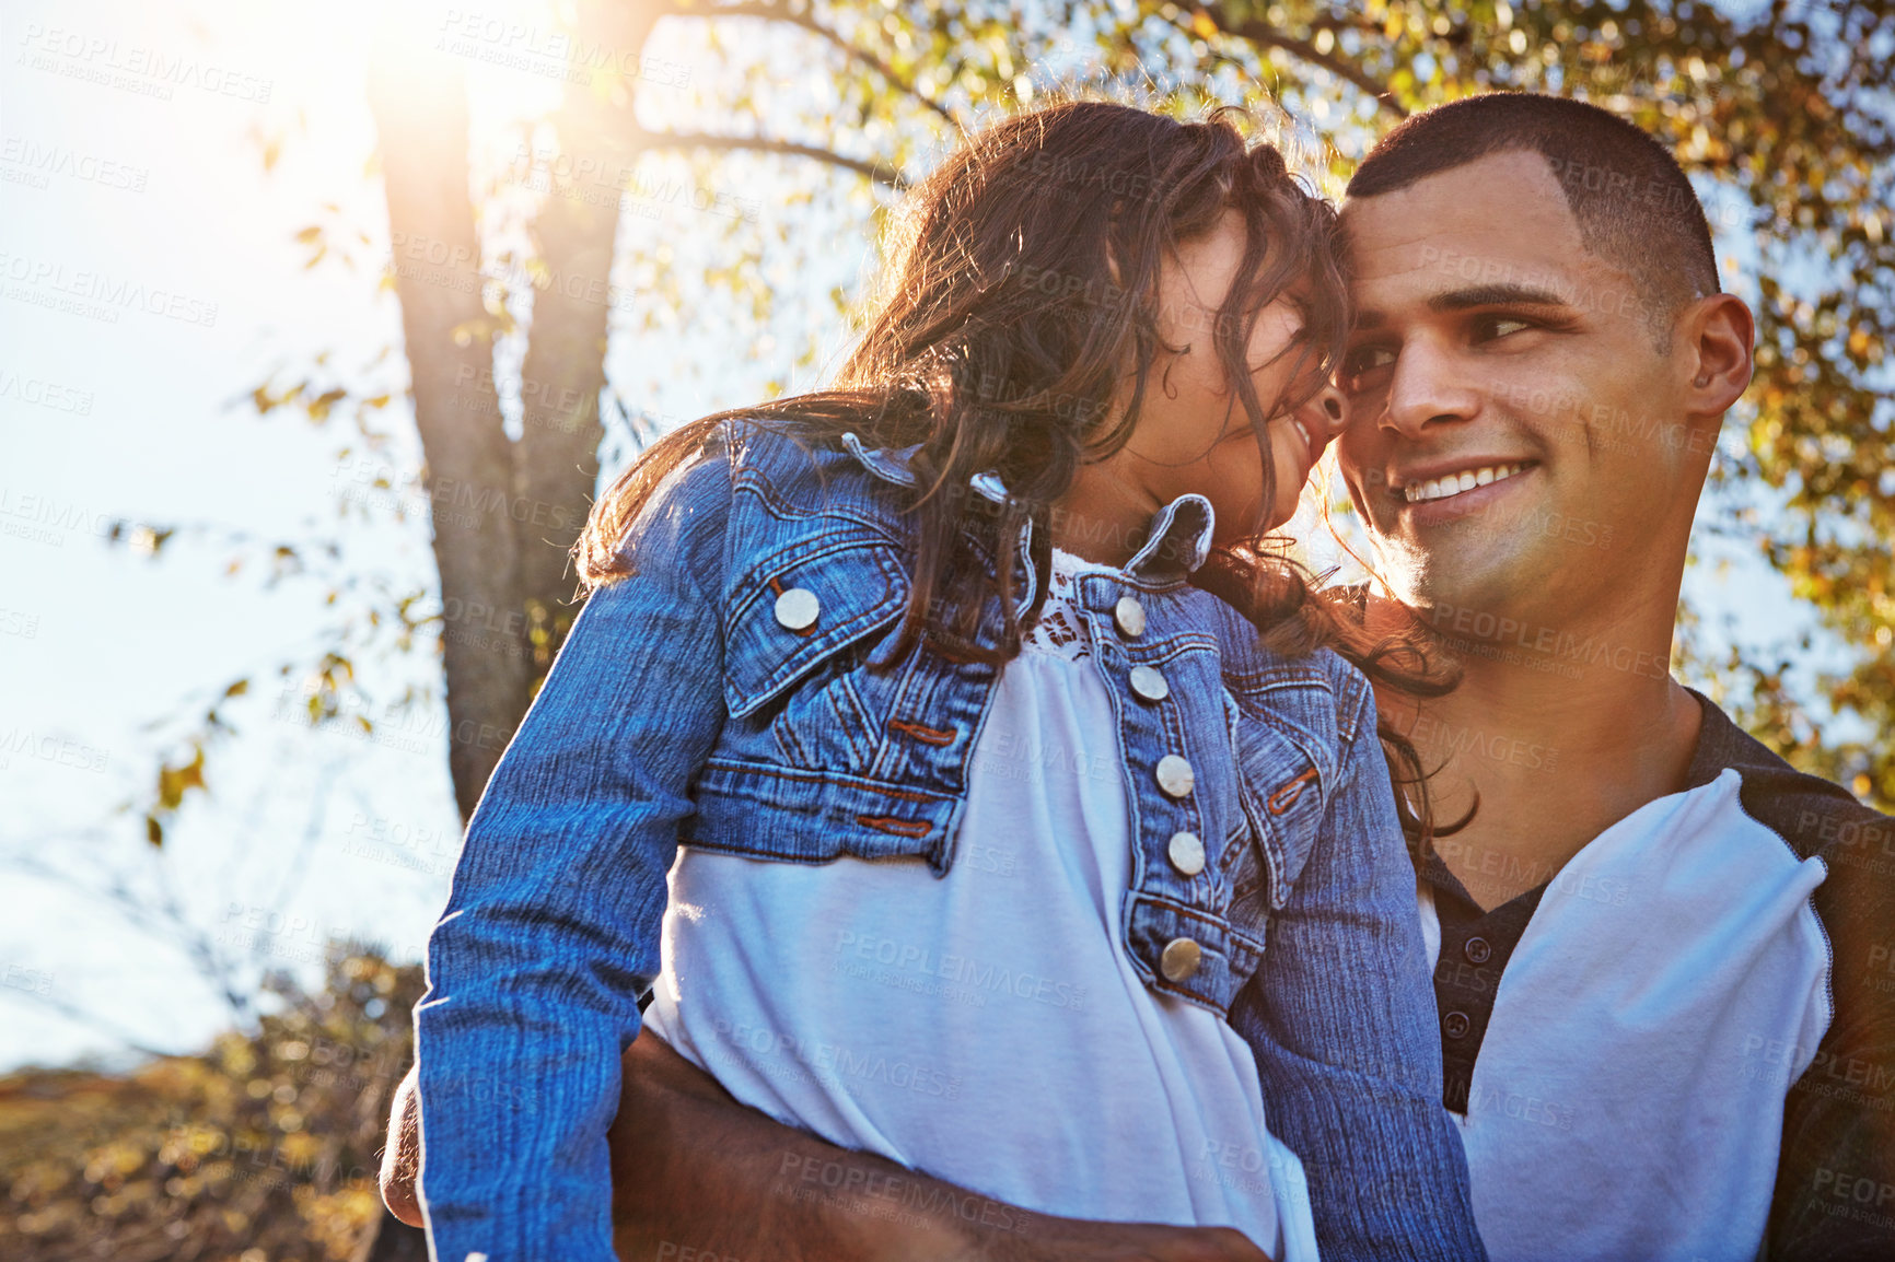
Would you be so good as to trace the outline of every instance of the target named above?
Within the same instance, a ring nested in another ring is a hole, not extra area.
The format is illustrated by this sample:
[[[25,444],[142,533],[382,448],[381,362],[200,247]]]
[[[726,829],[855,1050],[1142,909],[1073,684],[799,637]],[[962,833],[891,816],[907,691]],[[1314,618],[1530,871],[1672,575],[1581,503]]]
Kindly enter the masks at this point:
[[[576,614],[568,550],[597,479],[606,286],[637,131],[635,78],[616,68],[641,64],[656,21],[652,6],[578,8],[576,45],[612,57],[608,68],[574,66],[580,78],[567,83],[555,116],[563,157],[536,222],[551,282],[532,299],[517,443],[506,436],[493,385],[495,322],[481,305],[460,64],[383,42],[370,68],[432,500],[447,767],[462,822]]]

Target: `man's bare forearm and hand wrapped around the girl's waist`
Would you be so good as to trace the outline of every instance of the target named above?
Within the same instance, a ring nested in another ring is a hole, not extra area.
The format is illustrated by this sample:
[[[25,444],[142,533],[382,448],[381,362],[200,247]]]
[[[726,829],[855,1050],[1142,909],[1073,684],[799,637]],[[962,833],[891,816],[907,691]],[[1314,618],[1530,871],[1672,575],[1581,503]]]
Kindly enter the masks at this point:
[[[612,1124],[622,1258],[741,1262],[1270,1262],[1230,1228],[1037,1215],[745,1109],[654,1035],[623,1059]],[[415,1074],[396,1088],[383,1199],[421,1224]]]

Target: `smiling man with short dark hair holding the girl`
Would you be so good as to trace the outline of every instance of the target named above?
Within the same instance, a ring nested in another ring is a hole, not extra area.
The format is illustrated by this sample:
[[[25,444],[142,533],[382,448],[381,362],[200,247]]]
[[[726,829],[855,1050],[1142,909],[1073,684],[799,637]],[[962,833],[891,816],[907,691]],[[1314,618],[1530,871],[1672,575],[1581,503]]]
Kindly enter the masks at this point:
[[[1395,597],[1364,616],[1421,618],[1465,671],[1380,703],[1438,766],[1436,819],[1467,817],[1419,911],[1491,1254],[1895,1258],[1895,820],[1668,673],[1753,366],[1690,184],[1601,110],[1478,97],[1391,133],[1344,227],[1340,459]],[[646,1042],[614,1133],[623,1256],[1260,1256],[845,1154]]]

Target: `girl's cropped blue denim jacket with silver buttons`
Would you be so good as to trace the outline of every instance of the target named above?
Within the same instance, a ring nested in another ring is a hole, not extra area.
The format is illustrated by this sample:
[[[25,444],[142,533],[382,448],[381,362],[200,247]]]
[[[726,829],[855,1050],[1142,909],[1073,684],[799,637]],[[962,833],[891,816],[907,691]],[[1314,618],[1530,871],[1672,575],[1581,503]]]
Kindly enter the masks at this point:
[[[908,599],[906,455],[726,424],[646,506],[637,572],[576,620],[428,942],[421,1196],[440,1262],[612,1258],[606,1127],[680,843],[953,866],[1001,669],[927,646],[868,665]],[[1209,532],[1209,502],[1181,496],[1126,578],[1074,591],[1124,752],[1126,951],[1253,1048],[1325,1258],[1484,1258],[1374,697],[1334,654],[1275,656],[1188,586]],[[1133,667],[1167,688],[1133,692]]]

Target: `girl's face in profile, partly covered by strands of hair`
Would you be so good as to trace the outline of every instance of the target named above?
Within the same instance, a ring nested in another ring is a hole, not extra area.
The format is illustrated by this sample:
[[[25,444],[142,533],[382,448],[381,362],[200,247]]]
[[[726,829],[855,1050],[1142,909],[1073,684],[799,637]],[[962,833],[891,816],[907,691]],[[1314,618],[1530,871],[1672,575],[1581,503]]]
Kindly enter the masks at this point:
[[[1182,243],[1162,263],[1158,330],[1165,345],[1181,352],[1158,352],[1137,428],[1099,466],[1122,483],[1114,498],[1129,493],[1148,512],[1192,491],[1203,495],[1217,512],[1218,544],[1289,521],[1309,470],[1347,421],[1344,396],[1334,388],[1273,417],[1266,434],[1275,485],[1264,485],[1256,432],[1226,381],[1215,345],[1218,307],[1241,263],[1243,218],[1236,210],[1226,210],[1213,231]],[[1302,330],[1304,316],[1292,294],[1279,294],[1251,328],[1247,362],[1264,407],[1292,394]]]

